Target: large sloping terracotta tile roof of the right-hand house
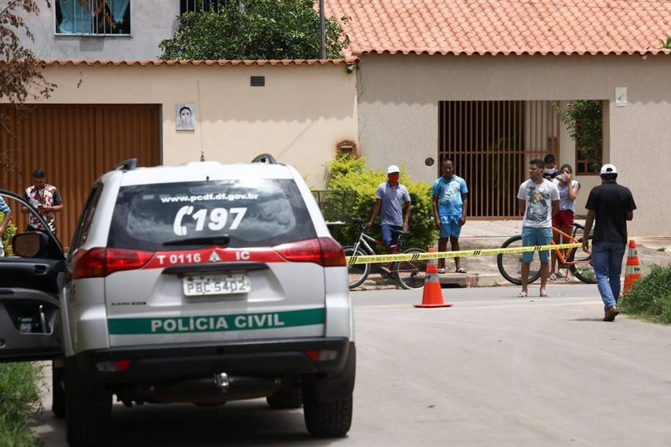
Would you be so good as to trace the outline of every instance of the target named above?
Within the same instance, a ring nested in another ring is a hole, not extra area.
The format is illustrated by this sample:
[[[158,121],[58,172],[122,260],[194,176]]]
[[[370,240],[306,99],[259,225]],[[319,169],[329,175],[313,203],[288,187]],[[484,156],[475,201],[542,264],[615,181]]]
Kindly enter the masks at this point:
[[[648,54],[671,34],[668,0],[326,0],[347,55]]]

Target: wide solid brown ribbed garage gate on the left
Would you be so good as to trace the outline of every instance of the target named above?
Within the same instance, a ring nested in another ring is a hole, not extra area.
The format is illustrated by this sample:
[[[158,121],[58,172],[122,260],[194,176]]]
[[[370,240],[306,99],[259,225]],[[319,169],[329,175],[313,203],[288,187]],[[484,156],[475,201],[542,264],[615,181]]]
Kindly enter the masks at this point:
[[[0,105],[9,117],[8,131],[0,129],[4,168],[0,187],[22,193],[41,168],[47,182],[63,196],[56,216],[59,240],[70,244],[81,207],[95,180],[124,159],[138,166],[160,163],[159,105],[36,105],[22,119],[13,108]],[[26,219],[12,205],[13,223],[24,230]]]

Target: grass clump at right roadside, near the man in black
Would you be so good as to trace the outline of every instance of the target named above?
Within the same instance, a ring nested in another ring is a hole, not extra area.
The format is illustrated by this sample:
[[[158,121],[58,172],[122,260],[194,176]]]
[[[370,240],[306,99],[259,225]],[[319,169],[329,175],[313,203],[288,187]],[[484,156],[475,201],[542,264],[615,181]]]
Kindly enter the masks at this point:
[[[649,321],[671,324],[671,265],[653,265],[650,274],[630,288],[619,309]]]

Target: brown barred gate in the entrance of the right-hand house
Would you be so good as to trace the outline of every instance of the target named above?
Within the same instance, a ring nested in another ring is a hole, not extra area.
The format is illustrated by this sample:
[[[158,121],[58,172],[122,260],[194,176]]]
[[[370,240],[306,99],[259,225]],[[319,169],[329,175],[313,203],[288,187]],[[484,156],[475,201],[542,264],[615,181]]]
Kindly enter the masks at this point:
[[[517,189],[528,178],[528,161],[558,154],[553,103],[440,101],[438,115],[438,159],[454,161],[466,179],[469,216],[519,219]]]

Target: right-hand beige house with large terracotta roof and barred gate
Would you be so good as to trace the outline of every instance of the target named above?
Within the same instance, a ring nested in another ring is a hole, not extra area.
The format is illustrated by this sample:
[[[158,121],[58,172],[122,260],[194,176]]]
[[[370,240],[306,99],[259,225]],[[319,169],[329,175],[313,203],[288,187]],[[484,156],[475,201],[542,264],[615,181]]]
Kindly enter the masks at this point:
[[[671,234],[657,169],[671,165],[671,3],[636,0],[326,0],[347,16],[359,57],[359,153],[431,181],[454,159],[470,214],[519,217],[528,160],[556,154],[582,167],[578,212],[600,183],[556,106],[603,107],[603,163],[621,171],[636,235]]]

